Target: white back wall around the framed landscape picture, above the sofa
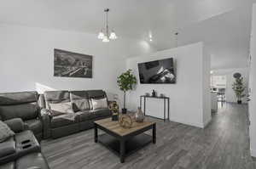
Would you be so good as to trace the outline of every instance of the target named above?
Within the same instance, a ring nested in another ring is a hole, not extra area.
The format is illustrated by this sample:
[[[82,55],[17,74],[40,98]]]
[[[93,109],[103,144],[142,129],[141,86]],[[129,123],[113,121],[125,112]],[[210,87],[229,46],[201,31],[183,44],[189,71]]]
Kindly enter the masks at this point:
[[[53,76],[54,48],[93,55],[93,78]],[[93,34],[0,25],[0,93],[49,89],[119,93],[116,77],[125,70],[125,56],[152,50],[148,42],[122,37],[103,43]]]

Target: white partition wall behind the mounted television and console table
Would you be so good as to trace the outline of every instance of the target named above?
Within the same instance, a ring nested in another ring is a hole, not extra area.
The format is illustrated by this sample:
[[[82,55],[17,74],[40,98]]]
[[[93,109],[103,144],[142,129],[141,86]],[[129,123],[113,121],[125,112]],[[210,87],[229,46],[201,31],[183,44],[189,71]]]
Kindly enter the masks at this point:
[[[211,119],[210,57],[204,53],[202,42],[130,58],[127,59],[126,66],[127,69],[133,70],[139,79],[137,63],[171,57],[174,58],[177,67],[177,83],[140,84],[138,82],[136,89],[128,93],[128,109],[136,110],[139,106],[139,96],[151,93],[155,89],[157,93],[164,93],[170,97],[171,121],[204,127]],[[161,118],[163,109],[162,100],[147,100],[147,115]]]

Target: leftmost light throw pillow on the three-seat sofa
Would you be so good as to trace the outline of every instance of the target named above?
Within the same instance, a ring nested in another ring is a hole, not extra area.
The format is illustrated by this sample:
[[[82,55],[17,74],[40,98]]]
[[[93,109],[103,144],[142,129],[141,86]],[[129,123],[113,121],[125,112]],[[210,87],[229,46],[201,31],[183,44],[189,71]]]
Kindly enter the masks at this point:
[[[59,104],[49,104],[49,110],[51,111],[52,115],[64,115],[68,113],[73,113],[72,103],[59,103]]]

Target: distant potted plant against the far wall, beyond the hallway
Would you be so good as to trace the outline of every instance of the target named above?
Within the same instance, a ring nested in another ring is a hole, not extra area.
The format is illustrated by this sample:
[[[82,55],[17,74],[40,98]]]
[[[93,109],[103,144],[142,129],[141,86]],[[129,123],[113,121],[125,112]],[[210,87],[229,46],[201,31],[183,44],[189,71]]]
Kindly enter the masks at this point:
[[[236,94],[237,104],[241,104],[241,99],[246,96],[244,94],[245,87],[243,84],[243,77],[241,77],[240,73],[235,73],[233,76],[235,78],[235,82],[232,85],[232,89]]]

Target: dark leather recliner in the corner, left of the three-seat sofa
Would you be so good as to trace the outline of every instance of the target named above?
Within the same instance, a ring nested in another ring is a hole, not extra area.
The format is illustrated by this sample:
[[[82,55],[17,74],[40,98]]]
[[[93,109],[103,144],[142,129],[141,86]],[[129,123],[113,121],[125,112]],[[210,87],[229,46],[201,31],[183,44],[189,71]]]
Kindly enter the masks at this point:
[[[0,120],[22,119],[38,141],[47,138],[44,127],[49,125],[49,115],[42,110],[37,92],[0,93]]]

